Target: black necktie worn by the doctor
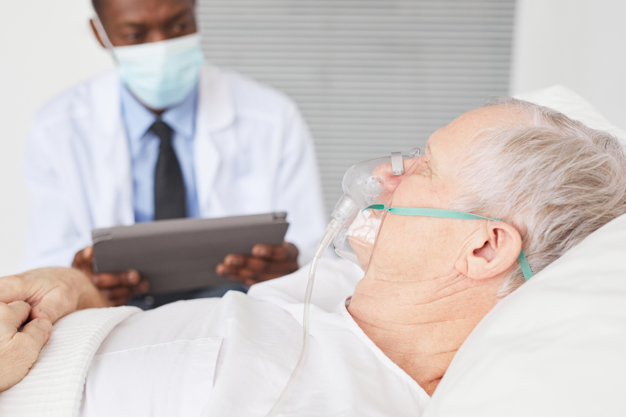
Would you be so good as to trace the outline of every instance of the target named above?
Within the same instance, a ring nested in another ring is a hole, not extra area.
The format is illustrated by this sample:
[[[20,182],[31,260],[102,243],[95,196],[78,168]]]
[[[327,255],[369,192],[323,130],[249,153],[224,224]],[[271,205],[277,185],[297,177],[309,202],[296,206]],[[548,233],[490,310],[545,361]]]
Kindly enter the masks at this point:
[[[185,182],[172,148],[172,128],[157,120],[150,130],[161,139],[155,170],[155,220],[186,217]]]

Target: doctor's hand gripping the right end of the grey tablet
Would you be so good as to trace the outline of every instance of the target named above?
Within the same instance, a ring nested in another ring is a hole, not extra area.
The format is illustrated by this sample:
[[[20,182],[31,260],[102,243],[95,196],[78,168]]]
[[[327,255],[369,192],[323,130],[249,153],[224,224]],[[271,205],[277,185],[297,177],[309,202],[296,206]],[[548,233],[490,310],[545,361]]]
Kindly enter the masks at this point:
[[[252,255],[227,255],[215,271],[250,286],[297,271],[297,259],[298,248],[293,243],[257,244],[252,248]]]

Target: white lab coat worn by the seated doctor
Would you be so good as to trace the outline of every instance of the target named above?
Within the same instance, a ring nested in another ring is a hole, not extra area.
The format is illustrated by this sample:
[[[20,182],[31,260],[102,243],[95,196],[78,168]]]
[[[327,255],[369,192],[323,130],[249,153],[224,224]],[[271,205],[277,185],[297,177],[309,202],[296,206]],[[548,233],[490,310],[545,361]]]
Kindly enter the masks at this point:
[[[310,259],[326,223],[315,149],[297,106],[240,74],[205,66],[193,143],[204,218],[286,211],[285,240]],[[69,266],[91,230],[133,224],[130,152],[116,72],[53,99],[31,125],[33,210],[23,269]]]

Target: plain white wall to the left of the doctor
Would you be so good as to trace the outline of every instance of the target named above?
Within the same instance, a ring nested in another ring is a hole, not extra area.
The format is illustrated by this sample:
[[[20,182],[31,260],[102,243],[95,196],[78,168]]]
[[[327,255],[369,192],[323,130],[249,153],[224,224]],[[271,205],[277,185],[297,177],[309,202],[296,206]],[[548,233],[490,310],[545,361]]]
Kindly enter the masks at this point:
[[[0,276],[15,273],[29,215],[28,123],[56,94],[113,68],[91,35],[89,0],[3,1],[0,14]]]

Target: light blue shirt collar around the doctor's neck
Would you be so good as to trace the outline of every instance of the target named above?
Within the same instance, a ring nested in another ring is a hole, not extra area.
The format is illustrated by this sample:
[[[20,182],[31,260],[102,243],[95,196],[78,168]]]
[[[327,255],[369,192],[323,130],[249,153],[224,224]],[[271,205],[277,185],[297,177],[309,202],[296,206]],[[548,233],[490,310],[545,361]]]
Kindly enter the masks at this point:
[[[131,143],[139,143],[145,136],[150,126],[155,123],[157,116],[148,110],[126,86],[121,86],[121,113],[126,133]],[[161,119],[170,128],[187,140],[193,139],[195,130],[195,113],[198,102],[198,85],[179,104],[167,109],[161,115]]]

